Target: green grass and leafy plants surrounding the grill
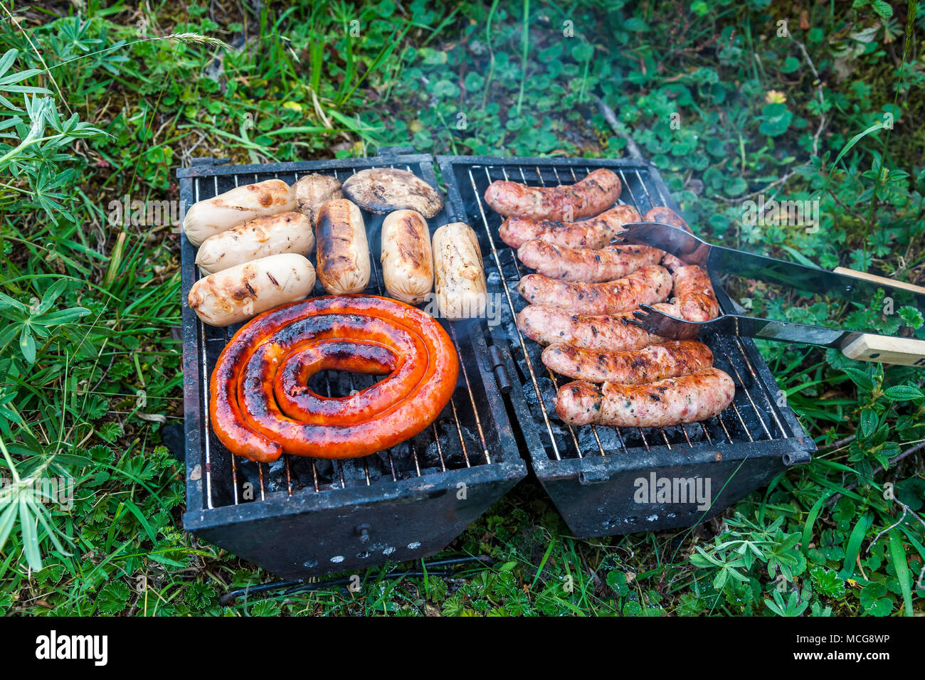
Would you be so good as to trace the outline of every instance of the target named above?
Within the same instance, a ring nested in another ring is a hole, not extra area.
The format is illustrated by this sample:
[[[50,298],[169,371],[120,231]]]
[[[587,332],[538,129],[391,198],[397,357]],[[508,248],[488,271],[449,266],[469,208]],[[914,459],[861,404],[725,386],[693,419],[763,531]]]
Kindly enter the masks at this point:
[[[222,607],[228,589],[272,577],[181,528],[183,470],[161,439],[182,418],[179,235],[108,221],[125,195],[177,200],[175,168],[194,156],[260,163],[411,143],[619,157],[628,134],[705,237],[922,283],[914,11],[815,5],[801,27],[764,0],[230,15],[165,1],[141,17],[86,5],[59,16],[0,0],[0,476],[19,481],[0,490],[0,612],[925,612],[925,375],[773,343],[761,350],[820,453],[722,517],[577,539],[525,481],[446,553],[487,554],[491,567],[389,579],[421,568],[389,565],[358,592]],[[791,36],[776,35],[779,19]],[[759,192],[819,198],[821,228],[746,224],[741,203]],[[758,315],[925,337],[915,310],[884,314],[882,300],[798,301],[748,281],[734,292]],[[75,480],[70,507],[24,492],[59,476]]]

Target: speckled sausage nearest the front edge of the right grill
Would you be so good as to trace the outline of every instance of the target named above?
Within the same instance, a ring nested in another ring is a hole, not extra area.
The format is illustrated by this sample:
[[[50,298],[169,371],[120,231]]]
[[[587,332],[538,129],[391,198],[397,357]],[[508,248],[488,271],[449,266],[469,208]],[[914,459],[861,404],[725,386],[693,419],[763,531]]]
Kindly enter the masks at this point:
[[[731,377],[704,368],[646,385],[570,382],[559,389],[556,413],[569,425],[669,427],[719,415],[734,396]]]

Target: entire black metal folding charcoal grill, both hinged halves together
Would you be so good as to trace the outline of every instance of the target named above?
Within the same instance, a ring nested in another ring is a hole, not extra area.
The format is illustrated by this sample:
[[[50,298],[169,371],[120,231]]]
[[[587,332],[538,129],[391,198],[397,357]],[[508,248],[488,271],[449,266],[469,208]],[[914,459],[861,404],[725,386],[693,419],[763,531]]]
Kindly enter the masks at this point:
[[[180,168],[187,206],[239,184],[289,183],[320,172],[347,179],[365,167],[401,167],[438,186],[433,157],[404,147],[370,158],[228,166],[197,159]],[[796,415],[777,403],[778,387],[754,343],[713,337],[716,365],[734,378],[734,404],[701,424],[659,429],[568,427],[554,411],[559,378],[539,361],[541,348],[513,323],[524,306],[514,286],[527,273],[500,241],[501,217],[484,203],[487,185],[514,179],[532,185],[571,183],[595,167],[623,181],[622,203],[641,213],[674,210],[658,171],[635,160],[438,156],[444,211],[431,230],[465,221],[478,235],[489,305],[498,323],[444,323],[461,360],[452,402],[434,427],[400,447],[363,459],[316,461],[283,456],[253,464],[232,456],[208,424],[208,377],[218,353],[240,327],[203,325],[186,297],[199,278],[195,251],[182,239],[183,366],[187,462],[187,530],[287,578],[419,559],[444,548],[530,469],[575,536],[605,536],[692,525],[722,512],[815,450]],[[367,292],[382,294],[378,269],[383,216],[364,213],[373,253]],[[323,294],[320,286],[316,294]],[[733,302],[717,290],[723,310]],[[490,315],[489,315],[490,316]],[[366,387],[362,377],[326,375],[319,393]],[[523,458],[522,458],[523,456]],[[709,478],[711,505],[639,503],[636,482],[658,477]]]

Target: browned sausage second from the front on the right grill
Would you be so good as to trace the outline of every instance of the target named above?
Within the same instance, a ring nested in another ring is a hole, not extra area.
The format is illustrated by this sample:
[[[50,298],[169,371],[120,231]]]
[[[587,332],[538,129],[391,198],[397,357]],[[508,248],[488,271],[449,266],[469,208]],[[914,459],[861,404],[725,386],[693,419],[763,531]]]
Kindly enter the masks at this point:
[[[713,352],[697,340],[668,340],[631,352],[554,344],[543,350],[543,364],[576,380],[642,385],[709,368],[713,365]]]

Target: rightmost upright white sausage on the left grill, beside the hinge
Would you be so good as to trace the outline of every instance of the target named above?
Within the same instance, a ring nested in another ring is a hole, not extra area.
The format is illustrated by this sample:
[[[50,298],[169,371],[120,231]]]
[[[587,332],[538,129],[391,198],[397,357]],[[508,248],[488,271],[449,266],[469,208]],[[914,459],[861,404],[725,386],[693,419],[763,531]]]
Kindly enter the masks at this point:
[[[469,225],[454,222],[434,232],[434,275],[440,315],[448,319],[485,315],[485,266],[478,237]]]

